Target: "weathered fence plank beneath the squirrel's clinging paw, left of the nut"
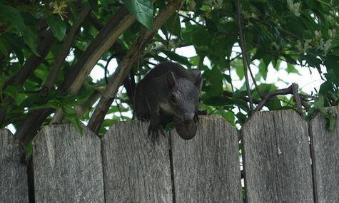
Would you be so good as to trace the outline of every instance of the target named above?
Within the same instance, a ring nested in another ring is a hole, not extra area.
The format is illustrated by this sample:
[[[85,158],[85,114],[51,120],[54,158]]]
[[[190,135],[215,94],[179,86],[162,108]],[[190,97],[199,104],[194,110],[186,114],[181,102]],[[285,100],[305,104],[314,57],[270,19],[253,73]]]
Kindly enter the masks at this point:
[[[153,145],[148,123],[115,123],[103,137],[106,202],[172,202],[168,138]]]

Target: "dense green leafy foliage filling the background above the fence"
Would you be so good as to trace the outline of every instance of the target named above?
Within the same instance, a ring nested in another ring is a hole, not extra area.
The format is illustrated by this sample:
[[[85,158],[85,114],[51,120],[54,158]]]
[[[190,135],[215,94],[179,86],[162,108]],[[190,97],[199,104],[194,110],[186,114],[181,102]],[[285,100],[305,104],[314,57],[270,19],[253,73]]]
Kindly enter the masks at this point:
[[[86,124],[91,118],[94,103],[106,88],[104,77],[98,76],[101,79],[93,80],[86,75],[81,90],[76,94],[64,87],[74,80],[77,74],[74,70],[86,65],[81,62],[90,57],[86,53],[93,52],[91,43],[106,43],[98,33],[103,32],[111,21],[121,18],[120,9],[126,6],[137,21],[126,28],[111,48],[102,52],[97,67],[104,68],[110,56],[120,63],[145,26],[153,30],[153,17],[166,8],[167,3],[165,0],[154,4],[151,0],[123,0],[123,4],[116,0],[91,0],[89,3],[71,0],[39,3],[1,1],[1,126],[12,124],[20,129],[34,110],[50,108],[55,111],[60,108],[66,120],[80,129],[79,120]],[[183,3],[180,11],[173,13],[161,26],[138,63],[133,64],[133,78],[138,82],[149,68],[168,60],[187,68],[198,68],[203,71],[204,80],[201,109],[221,114],[233,125],[243,125],[248,118],[249,97],[244,83],[243,55],[239,48],[236,1],[187,0]],[[339,2],[259,0],[241,3],[241,21],[250,68],[258,70],[253,76],[257,86],[251,85],[255,106],[263,100],[263,95],[278,89],[274,83],[266,82],[269,66],[289,74],[298,73],[300,68],[315,68],[323,76],[323,84],[313,95],[301,94],[303,102],[308,104],[308,107],[304,105],[303,111],[309,110],[310,115],[320,111],[328,118],[332,129],[334,115],[325,108],[339,103]],[[79,31],[75,32],[72,28],[86,6],[91,11],[81,21]],[[117,20],[117,24],[122,19]],[[61,53],[64,53],[63,47],[72,33],[75,33],[74,40],[66,50],[69,57],[61,58],[62,63],[58,65]],[[176,53],[179,48],[188,46],[196,51],[196,56],[186,57]],[[54,80],[50,76],[51,67],[61,68],[54,73]],[[235,80],[239,79],[242,85],[234,85]],[[46,88],[51,81],[51,87]],[[124,83],[125,88],[115,96],[99,135],[103,135],[107,127],[118,120],[133,119],[133,93],[130,92],[134,84],[133,80],[129,82],[132,85]],[[264,106],[268,110],[278,110],[296,108],[296,103],[288,95],[277,95]],[[48,124],[53,115],[44,119],[44,124]]]

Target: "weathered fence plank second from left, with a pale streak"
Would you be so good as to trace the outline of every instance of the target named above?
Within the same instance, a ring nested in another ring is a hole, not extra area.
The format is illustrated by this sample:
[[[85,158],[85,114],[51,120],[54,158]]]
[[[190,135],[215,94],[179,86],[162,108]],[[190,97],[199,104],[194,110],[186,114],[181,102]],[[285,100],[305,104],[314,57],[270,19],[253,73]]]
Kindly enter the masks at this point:
[[[104,202],[101,141],[84,127],[48,125],[34,139],[36,202]]]

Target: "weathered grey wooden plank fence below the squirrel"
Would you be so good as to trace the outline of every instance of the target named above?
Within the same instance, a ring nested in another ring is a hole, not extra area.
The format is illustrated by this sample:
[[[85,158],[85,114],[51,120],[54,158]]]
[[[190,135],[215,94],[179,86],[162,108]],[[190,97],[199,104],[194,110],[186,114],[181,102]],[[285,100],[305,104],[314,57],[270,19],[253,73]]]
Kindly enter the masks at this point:
[[[339,108],[335,108],[339,115]],[[35,202],[339,202],[339,120],[328,132],[291,110],[253,115],[240,133],[201,116],[193,140],[176,132],[153,145],[148,123],[113,125],[101,139],[49,125],[34,140]],[[0,202],[29,202],[24,147],[0,134]],[[32,195],[32,194],[30,194]],[[32,197],[32,196],[31,196]]]

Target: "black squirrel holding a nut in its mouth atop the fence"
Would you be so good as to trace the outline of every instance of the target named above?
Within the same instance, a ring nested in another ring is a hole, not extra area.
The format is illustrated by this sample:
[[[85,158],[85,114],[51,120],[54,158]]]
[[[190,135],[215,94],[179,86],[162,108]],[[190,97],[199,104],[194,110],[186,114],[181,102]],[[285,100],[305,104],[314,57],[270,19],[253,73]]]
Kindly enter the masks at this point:
[[[196,135],[202,87],[201,72],[186,70],[178,63],[165,62],[148,71],[136,85],[134,107],[139,120],[150,120],[152,141],[165,135],[163,127],[174,121],[183,139]]]

